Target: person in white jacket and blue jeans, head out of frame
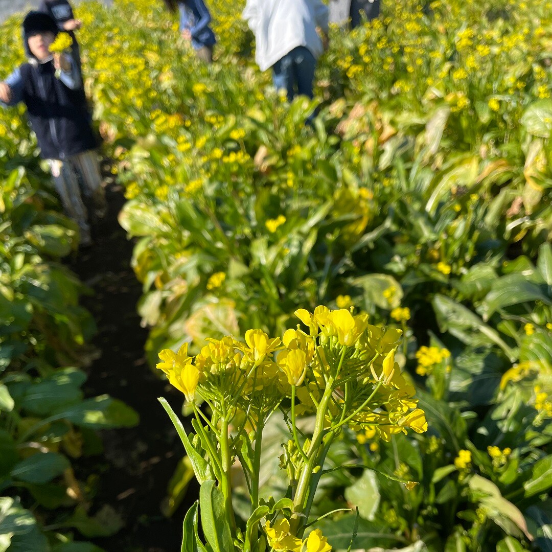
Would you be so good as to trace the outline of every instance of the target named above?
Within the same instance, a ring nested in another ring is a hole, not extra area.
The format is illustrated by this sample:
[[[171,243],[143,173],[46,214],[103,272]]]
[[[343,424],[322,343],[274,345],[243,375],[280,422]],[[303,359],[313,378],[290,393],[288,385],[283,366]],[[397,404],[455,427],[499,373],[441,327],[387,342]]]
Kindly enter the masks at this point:
[[[242,17],[255,35],[261,71],[272,68],[274,86],[290,102],[296,94],[312,98],[316,60],[328,44],[328,8],[321,0],[247,0]]]

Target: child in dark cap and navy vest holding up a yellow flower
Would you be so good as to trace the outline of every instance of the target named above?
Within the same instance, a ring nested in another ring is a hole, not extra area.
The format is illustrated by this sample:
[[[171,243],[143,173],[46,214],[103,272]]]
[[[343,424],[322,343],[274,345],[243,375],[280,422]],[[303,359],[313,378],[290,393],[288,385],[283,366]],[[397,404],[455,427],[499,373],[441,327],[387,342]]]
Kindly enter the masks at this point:
[[[75,61],[71,56],[50,52],[57,34],[57,24],[49,15],[26,15],[23,37],[28,62],[0,82],[0,105],[26,105],[40,154],[50,165],[63,208],[81,230],[81,245],[90,246],[92,237],[82,195],[91,200],[97,216],[107,214],[95,151],[98,142],[89,123]]]

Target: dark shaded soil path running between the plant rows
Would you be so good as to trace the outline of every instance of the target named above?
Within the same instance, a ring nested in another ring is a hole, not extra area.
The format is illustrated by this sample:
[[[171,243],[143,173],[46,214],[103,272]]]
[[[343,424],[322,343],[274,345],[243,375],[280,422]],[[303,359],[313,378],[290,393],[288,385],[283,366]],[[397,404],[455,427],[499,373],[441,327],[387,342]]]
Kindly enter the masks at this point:
[[[197,495],[197,489],[192,487],[171,519],[163,516],[161,503],[183,448],[157,397],[166,397],[176,412],[182,397],[146,363],[147,330],[136,314],[141,285],[130,266],[134,243],[117,222],[125,200],[114,184],[107,189],[107,199],[109,214],[95,225],[94,246],[81,252],[71,267],[95,292],[82,304],[98,325],[93,344],[101,356],[88,369],[85,392],[123,400],[140,414],[140,424],[104,432],[104,456],[81,466],[78,476],[83,480],[99,475],[91,513],[107,504],[125,522],[114,537],[93,539],[95,544],[107,552],[177,552],[184,507],[195,500],[190,495]]]

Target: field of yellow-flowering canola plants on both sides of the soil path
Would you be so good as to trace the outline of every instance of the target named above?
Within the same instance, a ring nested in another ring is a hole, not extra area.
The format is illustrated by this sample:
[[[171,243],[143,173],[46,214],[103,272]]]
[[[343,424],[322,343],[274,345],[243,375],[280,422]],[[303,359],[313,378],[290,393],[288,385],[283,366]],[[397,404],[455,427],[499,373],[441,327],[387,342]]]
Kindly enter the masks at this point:
[[[552,550],[552,2],[333,29],[312,128],[243,2],[209,5],[212,67],[161,2],[77,8],[147,357],[185,399],[182,550]],[[81,390],[78,229],[22,114],[0,110],[0,550],[99,552],[75,466],[139,418]]]

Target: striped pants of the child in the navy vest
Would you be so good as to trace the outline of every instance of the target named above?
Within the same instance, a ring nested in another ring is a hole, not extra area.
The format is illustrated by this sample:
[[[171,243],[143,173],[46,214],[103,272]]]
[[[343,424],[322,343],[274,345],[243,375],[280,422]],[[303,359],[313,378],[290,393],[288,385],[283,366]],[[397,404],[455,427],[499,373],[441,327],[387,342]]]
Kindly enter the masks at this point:
[[[107,211],[97,152],[85,151],[65,161],[50,159],[48,162],[65,214],[77,222],[81,244],[90,245],[87,205],[91,205],[98,216],[104,216]]]

